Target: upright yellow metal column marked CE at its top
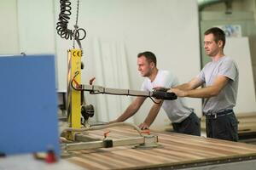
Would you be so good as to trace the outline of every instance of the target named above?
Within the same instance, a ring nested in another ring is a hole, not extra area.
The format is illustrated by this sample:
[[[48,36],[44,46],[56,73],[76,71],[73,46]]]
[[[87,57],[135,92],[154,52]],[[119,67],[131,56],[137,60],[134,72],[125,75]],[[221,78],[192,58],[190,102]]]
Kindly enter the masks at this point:
[[[81,92],[72,88],[78,82],[81,84],[81,50],[67,51],[67,118],[69,127],[81,127]],[[74,81],[73,81],[74,79]],[[67,139],[74,140],[74,133],[68,132]]]

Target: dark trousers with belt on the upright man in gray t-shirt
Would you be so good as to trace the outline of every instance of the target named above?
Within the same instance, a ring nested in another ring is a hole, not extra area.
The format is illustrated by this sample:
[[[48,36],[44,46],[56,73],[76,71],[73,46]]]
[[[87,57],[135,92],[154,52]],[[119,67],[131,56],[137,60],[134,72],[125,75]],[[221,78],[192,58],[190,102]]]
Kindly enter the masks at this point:
[[[207,117],[207,137],[238,141],[238,122],[234,112],[224,116]]]

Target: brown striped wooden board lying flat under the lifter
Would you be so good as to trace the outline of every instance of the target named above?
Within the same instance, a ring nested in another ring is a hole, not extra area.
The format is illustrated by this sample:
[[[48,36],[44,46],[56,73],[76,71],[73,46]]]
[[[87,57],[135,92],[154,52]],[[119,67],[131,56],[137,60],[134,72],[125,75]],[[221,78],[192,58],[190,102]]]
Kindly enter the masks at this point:
[[[131,127],[111,127],[90,132],[90,137],[103,138],[110,130],[108,139],[125,139],[138,134]],[[79,150],[66,158],[87,169],[142,169],[152,167],[175,167],[203,162],[254,159],[256,145],[218,139],[207,139],[179,133],[154,133],[159,136],[160,147],[133,149],[132,146]]]

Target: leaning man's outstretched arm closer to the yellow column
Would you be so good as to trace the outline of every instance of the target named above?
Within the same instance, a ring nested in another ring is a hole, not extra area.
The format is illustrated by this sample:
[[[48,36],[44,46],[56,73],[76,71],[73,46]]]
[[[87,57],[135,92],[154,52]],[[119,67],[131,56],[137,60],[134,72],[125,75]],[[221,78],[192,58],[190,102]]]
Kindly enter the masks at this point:
[[[143,105],[143,102],[145,101],[145,99],[146,99],[145,97],[137,97],[135,100],[133,100],[131,105],[127,107],[127,109],[121,116],[119,116],[116,120],[110,123],[124,122],[126,119],[133,116],[137,112],[137,110],[141,107],[141,105]]]

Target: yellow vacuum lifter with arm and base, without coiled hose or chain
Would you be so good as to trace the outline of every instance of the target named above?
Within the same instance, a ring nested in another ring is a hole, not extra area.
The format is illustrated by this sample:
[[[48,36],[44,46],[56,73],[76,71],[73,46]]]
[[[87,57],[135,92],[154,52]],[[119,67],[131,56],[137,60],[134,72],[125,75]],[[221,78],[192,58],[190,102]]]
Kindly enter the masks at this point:
[[[101,147],[113,147],[127,144],[140,144],[141,147],[155,147],[157,146],[157,136],[150,133],[143,133],[136,125],[127,122],[117,122],[112,124],[90,126],[88,122],[89,117],[94,116],[94,108],[92,105],[85,105],[84,91],[90,94],[113,94],[113,95],[126,95],[126,96],[141,96],[145,98],[154,99],[177,99],[173,93],[166,92],[167,89],[155,89],[153,92],[119,89],[119,88],[103,88],[96,85],[80,84],[81,77],[81,50],[70,49],[68,50],[68,77],[67,77],[67,118],[69,127],[63,132],[62,136],[66,139],[73,141],[62,145],[63,150],[84,150],[95,149]],[[152,99],[154,101],[154,99]],[[81,117],[84,117],[84,122],[81,122]],[[139,136],[132,139],[107,139],[107,136],[102,140],[90,139],[86,133],[90,130],[99,130],[114,126],[130,126],[137,130]]]

